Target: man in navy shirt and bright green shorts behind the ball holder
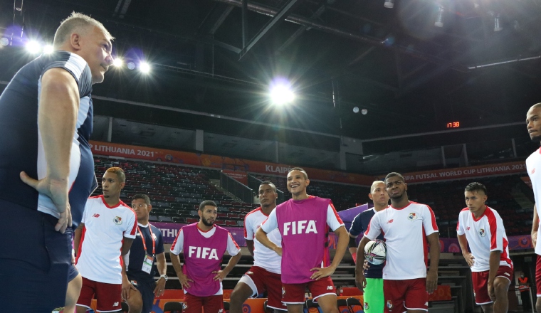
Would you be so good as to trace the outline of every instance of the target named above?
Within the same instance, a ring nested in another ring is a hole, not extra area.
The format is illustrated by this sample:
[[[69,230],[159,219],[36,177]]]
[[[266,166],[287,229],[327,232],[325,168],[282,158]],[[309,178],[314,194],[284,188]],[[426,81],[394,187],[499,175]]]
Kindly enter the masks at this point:
[[[389,206],[389,194],[387,193],[387,190],[385,190],[384,181],[374,181],[370,187],[368,197],[374,201],[374,208],[369,208],[355,216],[350,227],[350,253],[355,262],[357,262],[357,245],[355,244],[355,238],[360,234],[364,234],[375,213],[382,211]],[[383,235],[379,234],[377,239],[384,240]],[[383,264],[367,265],[369,268],[364,274],[367,278],[367,286],[364,289],[363,297],[364,313],[383,312],[385,304],[383,297],[383,266]]]

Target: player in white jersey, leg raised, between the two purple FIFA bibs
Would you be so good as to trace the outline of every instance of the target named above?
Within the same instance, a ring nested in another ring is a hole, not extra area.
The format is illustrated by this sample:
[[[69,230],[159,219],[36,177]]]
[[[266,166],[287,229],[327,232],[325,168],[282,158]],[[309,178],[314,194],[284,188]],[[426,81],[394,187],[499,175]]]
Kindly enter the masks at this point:
[[[276,207],[276,187],[270,181],[263,181],[259,186],[259,199],[261,207],[246,214],[244,218],[244,238],[246,248],[253,256],[253,266],[238,281],[235,289],[231,292],[230,313],[242,313],[242,304],[248,297],[254,297],[267,291],[267,307],[275,310],[286,310],[282,304],[281,266],[282,258],[273,250],[266,248],[255,237],[256,231],[266,221],[269,214]],[[282,246],[282,237],[278,228],[268,234],[271,241]]]

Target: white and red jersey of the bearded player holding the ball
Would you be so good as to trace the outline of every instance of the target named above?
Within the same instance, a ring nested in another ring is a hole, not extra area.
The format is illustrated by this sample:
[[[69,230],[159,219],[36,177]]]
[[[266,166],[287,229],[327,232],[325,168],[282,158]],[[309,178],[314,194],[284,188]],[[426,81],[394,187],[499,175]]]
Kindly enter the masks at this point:
[[[374,214],[364,236],[374,240],[383,233],[387,244],[384,280],[413,280],[426,277],[429,259],[426,236],[437,231],[432,209],[409,201],[404,208],[389,206]]]

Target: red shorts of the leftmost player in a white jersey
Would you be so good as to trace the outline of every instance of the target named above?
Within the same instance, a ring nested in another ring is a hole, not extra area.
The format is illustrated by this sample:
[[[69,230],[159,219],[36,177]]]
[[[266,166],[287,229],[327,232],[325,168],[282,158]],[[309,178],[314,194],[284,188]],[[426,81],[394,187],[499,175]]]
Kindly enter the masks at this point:
[[[92,298],[96,299],[96,312],[111,312],[122,309],[122,284],[107,284],[95,282],[83,277],[83,287],[80,290],[77,305],[90,309]]]

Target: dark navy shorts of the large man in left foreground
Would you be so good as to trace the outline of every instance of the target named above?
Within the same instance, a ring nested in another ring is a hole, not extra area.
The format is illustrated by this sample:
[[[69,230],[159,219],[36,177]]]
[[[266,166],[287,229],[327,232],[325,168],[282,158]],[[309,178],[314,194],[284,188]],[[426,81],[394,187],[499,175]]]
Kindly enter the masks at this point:
[[[71,234],[54,230],[58,218],[0,200],[0,292],[4,312],[63,307],[71,266]]]

